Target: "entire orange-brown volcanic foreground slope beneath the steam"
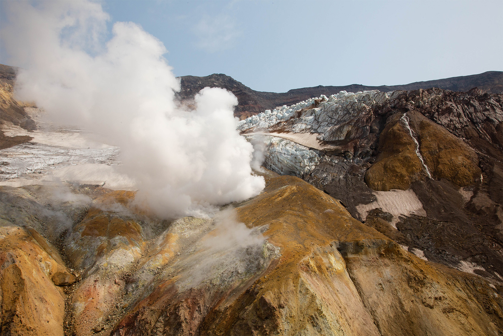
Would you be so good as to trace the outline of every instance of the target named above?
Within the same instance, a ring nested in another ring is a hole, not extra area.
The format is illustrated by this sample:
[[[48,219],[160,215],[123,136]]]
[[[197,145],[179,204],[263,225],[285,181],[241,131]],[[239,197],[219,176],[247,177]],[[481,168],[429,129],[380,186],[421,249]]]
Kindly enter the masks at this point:
[[[133,192],[74,188],[94,200],[72,217],[59,249],[13,224],[16,213],[3,215],[11,222],[0,229],[2,333],[63,334],[63,325],[77,335],[503,331],[500,282],[407,252],[300,178],[263,175],[266,189],[234,210],[172,223],[138,212]],[[48,190],[37,186],[32,197]],[[3,207],[15,201],[3,198]],[[371,218],[381,227],[390,220]],[[63,291],[55,279],[72,277],[65,262],[77,282],[60,283],[70,285]]]

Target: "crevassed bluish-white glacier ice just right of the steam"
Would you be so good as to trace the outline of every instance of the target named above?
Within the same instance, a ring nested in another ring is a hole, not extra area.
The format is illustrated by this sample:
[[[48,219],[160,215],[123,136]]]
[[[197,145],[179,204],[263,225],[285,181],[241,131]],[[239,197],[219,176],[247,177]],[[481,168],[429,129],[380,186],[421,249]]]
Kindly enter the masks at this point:
[[[240,131],[254,128],[256,131],[267,130],[271,126],[292,119],[285,125],[285,131],[293,133],[317,133],[317,139],[324,140],[324,134],[330,131],[329,140],[344,139],[350,131],[351,120],[367,113],[375,104],[382,104],[389,99],[386,92],[363,91],[346,92],[316,98],[310,98],[291,106],[282,106],[253,115],[238,123]],[[337,139],[332,139],[332,138]],[[319,163],[320,153],[293,141],[267,137],[267,150],[264,166],[283,175],[307,176]]]

